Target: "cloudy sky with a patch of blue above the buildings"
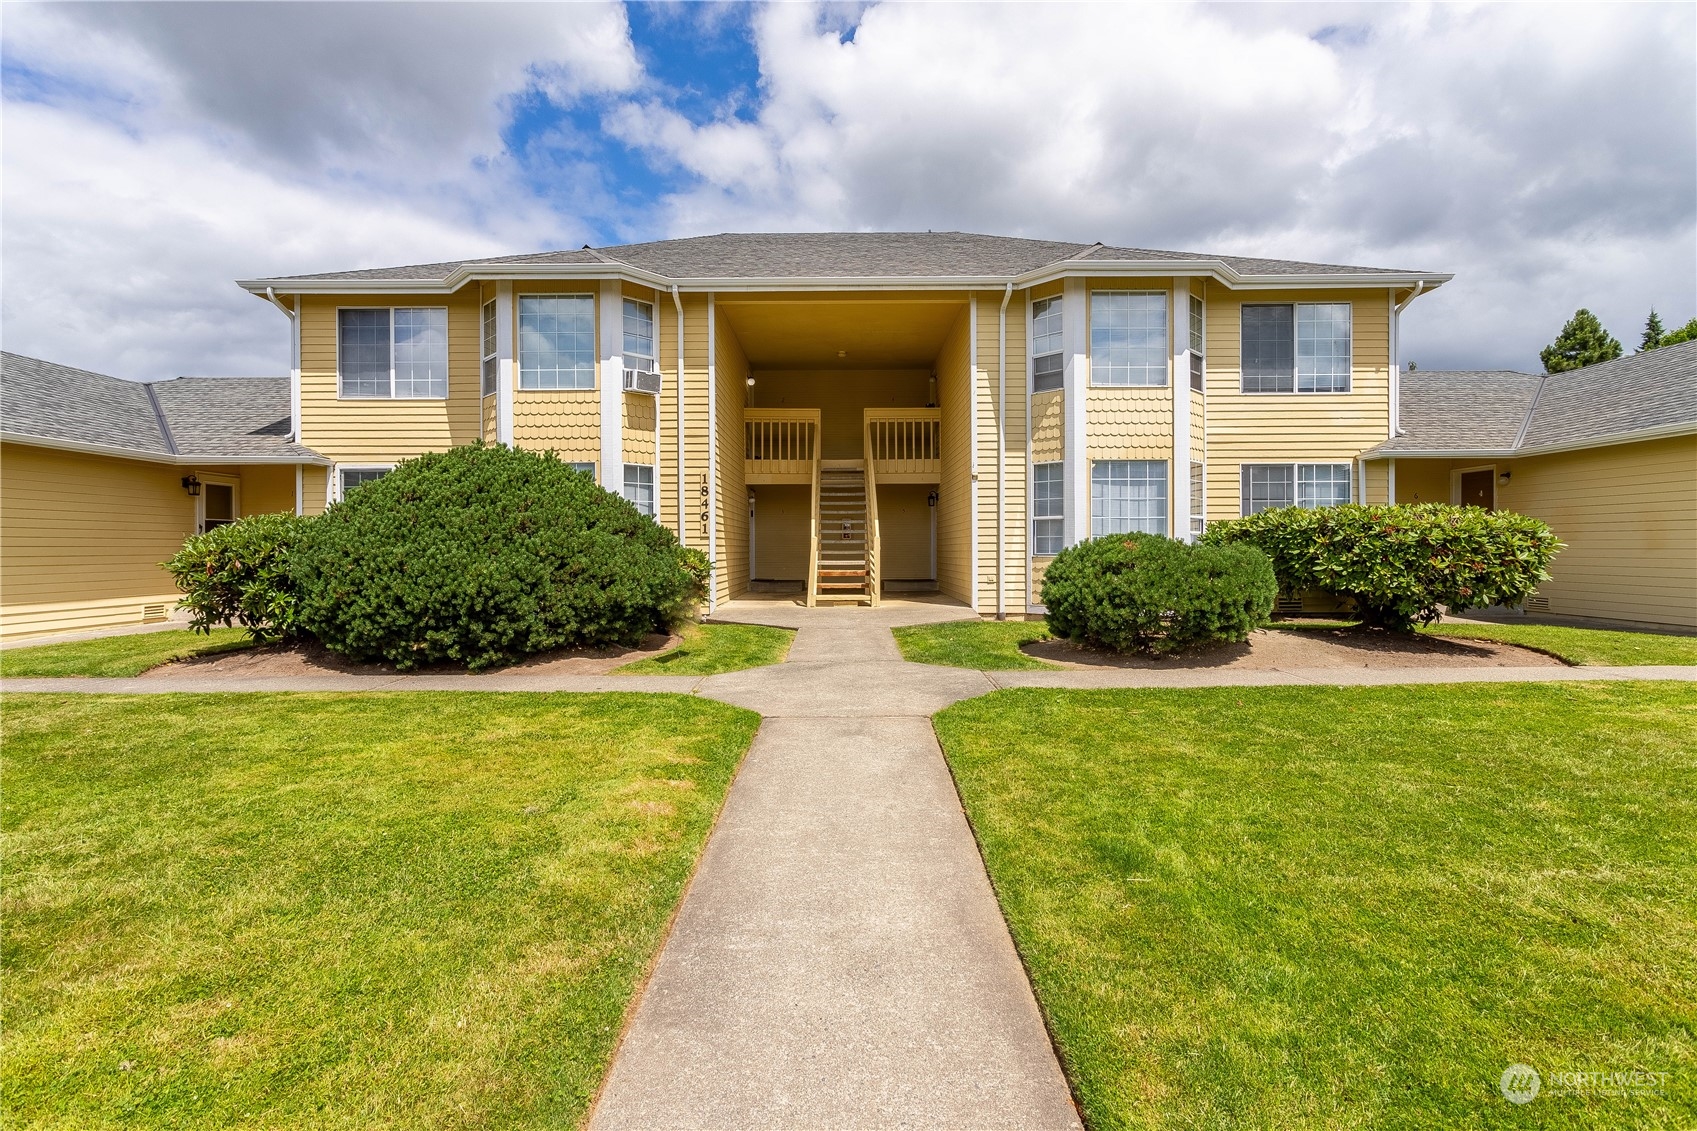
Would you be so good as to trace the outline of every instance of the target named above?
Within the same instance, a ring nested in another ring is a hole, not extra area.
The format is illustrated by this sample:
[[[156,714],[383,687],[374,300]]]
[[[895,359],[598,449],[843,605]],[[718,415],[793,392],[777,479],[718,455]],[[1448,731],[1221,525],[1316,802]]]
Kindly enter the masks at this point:
[[[275,374],[231,280],[716,231],[1454,272],[1422,369],[1697,314],[1697,5],[7,3],[0,333]]]

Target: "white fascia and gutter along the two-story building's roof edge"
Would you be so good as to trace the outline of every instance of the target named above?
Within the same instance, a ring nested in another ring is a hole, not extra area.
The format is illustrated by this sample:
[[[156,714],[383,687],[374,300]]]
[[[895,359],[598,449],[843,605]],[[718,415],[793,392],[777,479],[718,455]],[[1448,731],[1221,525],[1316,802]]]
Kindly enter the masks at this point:
[[[1313,287],[1412,287],[1425,284],[1432,290],[1454,275],[1392,273],[1315,273],[1315,275],[1242,275],[1218,260],[1139,260],[1066,262],[1013,275],[1017,290],[1069,277],[1161,279],[1169,275],[1205,275],[1232,290],[1298,290]],[[473,280],[524,279],[619,279],[641,287],[670,290],[716,290],[720,294],[762,290],[1001,290],[1008,275],[867,275],[867,277],[748,277],[748,279],[667,279],[635,267],[609,263],[480,263],[458,268],[446,279],[241,279],[236,285],[265,297],[266,287],[277,294],[455,294]]]

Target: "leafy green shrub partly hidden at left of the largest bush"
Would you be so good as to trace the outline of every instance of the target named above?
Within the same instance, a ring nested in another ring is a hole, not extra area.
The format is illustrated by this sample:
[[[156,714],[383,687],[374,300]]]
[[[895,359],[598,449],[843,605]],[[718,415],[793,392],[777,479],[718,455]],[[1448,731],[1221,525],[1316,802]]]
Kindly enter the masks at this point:
[[[183,591],[188,627],[241,625],[256,640],[297,633],[299,593],[288,557],[305,530],[295,515],[251,515],[190,535],[165,571]]]

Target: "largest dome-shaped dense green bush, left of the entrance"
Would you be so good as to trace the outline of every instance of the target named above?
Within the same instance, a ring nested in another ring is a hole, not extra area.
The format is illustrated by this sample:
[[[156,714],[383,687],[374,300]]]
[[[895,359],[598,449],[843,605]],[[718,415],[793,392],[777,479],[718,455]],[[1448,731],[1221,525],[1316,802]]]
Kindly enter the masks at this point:
[[[299,622],[326,647],[470,669],[635,644],[677,623],[704,559],[553,453],[424,455],[312,520],[294,554]]]

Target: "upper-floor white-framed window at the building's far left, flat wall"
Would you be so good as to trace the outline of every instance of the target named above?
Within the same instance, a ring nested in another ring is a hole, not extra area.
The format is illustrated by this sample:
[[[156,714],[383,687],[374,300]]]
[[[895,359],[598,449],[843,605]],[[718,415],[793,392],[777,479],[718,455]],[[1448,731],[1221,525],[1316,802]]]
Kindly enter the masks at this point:
[[[448,307],[336,311],[336,370],[343,397],[446,397]]]

